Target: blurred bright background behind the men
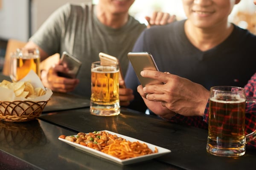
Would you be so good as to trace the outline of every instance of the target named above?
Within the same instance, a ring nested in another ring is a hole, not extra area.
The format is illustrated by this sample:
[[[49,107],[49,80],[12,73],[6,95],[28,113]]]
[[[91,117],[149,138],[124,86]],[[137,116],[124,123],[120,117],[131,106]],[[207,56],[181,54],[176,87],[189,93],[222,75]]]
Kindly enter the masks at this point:
[[[98,3],[98,0],[0,0],[0,71],[9,39],[28,41],[41,24],[65,3]],[[130,14],[141,23],[153,11],[175,14],[177,20],[186,18],[181,0],[135,0]],[[230,21],[256,34],[256,6],[253,0],[241,0],[230,14]]]

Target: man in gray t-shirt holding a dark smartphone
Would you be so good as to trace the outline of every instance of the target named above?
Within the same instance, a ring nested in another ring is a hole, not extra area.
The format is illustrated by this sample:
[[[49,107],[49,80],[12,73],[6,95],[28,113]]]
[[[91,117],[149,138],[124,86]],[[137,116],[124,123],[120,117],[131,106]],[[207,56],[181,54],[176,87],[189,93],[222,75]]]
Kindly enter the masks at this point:
[[[45,87],[90,97],[90,67],[92,62],[99,61],[99,52],[118,58],[125,74],[128,68],[127,53],[146,28],[128,14],[133,3],[134,0],[99,0],[98,5],[67,3],[58,8],[29,39],[26,47],[38,47],[41,60],[67,51],[79,59],[82,65],[77,79],[58,77],[57,71],[64,70],[60,65],[49,72],[42,71],[41,78]],[[175,19],[169,14],[157,14],[157,17],[152,17],[155,21],[153,24],[160,20],[165,24]],[[131,89],[125,89],[124,93],[129,95]]]

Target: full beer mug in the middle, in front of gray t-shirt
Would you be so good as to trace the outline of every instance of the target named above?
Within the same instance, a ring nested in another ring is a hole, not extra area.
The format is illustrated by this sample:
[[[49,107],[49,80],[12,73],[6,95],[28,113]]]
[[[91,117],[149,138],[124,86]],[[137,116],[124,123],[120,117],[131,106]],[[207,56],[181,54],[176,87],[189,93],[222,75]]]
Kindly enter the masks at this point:
[[[114,116],[120,113],[118,63],[92,63],[90,113],[97,116]]]

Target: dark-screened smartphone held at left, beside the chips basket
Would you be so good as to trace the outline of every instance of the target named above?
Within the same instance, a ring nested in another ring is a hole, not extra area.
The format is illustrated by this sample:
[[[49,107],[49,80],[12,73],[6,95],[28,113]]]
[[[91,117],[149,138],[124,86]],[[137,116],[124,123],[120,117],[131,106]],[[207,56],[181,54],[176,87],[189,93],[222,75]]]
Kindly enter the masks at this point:
[[[69,71],[67,73],[58,72],[58,76],[74,79],[76,78],[82,63],[76,57],[64,51],[61,55],[60,64],[67,66]]]

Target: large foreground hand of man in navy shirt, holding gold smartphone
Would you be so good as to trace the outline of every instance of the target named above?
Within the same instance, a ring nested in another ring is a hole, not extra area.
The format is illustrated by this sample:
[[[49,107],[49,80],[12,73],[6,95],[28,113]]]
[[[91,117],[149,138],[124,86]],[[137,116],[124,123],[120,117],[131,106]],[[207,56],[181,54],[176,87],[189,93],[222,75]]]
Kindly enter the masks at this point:
[[[160,71],[142,71],[141,75],[164,82],[164,84],[148,85],[142,89],[144,94],[147,94],[145,96],[147,100],[161,103],[157,105],[158,108],[148,106],[154,113],[161,114],[162,110],[166,112],[163,108],[166,107],[184,116],[203,116],[209,91],[202,85]],[[139,93],[142,93],[141,89],[139,90]]]

